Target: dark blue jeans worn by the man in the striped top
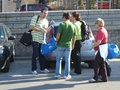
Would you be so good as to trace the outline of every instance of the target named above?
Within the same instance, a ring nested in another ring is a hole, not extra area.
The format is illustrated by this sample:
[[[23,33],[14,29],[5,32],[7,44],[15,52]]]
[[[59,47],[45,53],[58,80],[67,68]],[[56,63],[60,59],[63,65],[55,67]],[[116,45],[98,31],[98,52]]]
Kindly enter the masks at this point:
[[[37,70],[37,61],[39,61],[40,70],[46,68],[46,60],[44,55],[41,54],[41,43],[32,42],[33,54],[32,54],[32,71]]]

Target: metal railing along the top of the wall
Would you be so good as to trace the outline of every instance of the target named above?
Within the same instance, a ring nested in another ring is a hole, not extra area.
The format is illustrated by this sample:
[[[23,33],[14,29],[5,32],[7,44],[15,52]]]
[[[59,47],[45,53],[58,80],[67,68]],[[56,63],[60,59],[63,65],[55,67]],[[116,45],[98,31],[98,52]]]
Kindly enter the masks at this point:
[[[48,0],[48,5],[57,10],[120,9],[120,0]],[[108,6],[107,6],[108,5]]]

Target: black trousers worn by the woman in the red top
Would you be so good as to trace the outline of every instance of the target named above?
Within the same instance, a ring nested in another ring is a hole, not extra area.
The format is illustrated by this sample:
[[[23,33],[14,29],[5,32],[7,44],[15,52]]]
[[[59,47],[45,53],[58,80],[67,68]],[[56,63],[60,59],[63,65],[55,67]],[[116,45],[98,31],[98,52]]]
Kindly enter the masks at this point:
[[[107,76],[107,70],[106,70],[106,65],[105,65],[105,61],[104,59],[100,56],[100,52],[98,51],[96,57],[95,57],[95,61],[94,61],[94,79],[97,81],[98,80],[98,76],[101,75],[102,81],[107,81],[108,80],[108,76]]]

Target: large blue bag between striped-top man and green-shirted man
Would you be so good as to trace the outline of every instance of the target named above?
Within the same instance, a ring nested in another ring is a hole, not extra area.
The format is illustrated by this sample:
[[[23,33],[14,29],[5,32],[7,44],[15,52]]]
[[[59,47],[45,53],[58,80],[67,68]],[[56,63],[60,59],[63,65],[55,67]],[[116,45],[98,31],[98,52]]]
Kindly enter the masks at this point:
[[[47,55],[48,53],[54,51],[57,48],[56,38],[52,37],[46,44],[41,45],[41,54]]]

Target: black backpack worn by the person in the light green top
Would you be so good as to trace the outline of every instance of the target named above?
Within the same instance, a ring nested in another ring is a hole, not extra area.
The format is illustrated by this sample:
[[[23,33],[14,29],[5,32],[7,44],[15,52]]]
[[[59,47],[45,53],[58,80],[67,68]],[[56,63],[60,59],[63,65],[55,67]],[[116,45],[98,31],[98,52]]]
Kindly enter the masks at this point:
[[[82,24],[81,24],[81,36],[82,36],[82,42],[85,41],[87,38],[88,38],[88,26],[86,24],[85,21],[80,21]]]

